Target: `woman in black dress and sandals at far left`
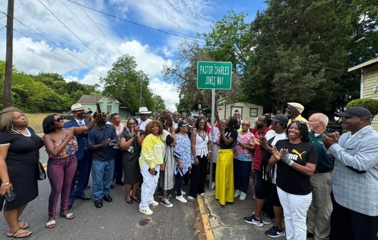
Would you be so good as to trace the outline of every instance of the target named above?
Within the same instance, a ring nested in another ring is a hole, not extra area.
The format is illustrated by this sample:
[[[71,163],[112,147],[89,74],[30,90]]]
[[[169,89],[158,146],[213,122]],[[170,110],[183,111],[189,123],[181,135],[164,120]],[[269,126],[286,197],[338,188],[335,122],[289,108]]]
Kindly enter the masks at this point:
[[[37,160],[43,140],[27,126],[28,119],[17,108],[0,111],[0,195],[9,195],[11,189],[17,195],[12,202],[5,201],[3,209],[9,225],[7,236],[15,238],[32,234],[25,230],[29,224],[19,217],[26,205],[38,196]]]

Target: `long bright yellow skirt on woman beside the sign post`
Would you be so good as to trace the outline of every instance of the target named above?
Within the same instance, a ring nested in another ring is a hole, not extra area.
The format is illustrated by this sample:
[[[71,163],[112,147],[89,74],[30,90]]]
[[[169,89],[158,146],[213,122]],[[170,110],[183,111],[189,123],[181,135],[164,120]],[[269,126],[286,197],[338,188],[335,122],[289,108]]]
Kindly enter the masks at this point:
[[[232,149],[219,149],[215,170],[215,198],[221,205],[233,203],[233,152]]]

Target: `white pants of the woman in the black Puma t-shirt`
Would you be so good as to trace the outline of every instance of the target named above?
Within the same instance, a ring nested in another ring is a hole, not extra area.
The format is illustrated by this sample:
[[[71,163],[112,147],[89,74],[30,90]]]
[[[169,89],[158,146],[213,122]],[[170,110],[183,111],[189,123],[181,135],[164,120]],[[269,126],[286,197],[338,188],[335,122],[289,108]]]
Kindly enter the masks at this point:
[[[279,187],[277,187],[277,192],[285,217],[286,239],[306,240],[306,216],[312,201],[312,193],[294,195]]]

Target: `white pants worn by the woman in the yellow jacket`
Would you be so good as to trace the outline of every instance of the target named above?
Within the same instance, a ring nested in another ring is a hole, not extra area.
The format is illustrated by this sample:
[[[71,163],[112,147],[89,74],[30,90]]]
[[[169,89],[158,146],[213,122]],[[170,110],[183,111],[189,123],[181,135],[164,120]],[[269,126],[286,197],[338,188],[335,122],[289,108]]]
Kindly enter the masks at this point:
[[[148,204],[153,203],[153,194],[155,193],[156,186],[158,186],[160,165],[155,164],[155,171],[157,171],[156,175],[149,173],[148,169],[149,165],[146,162],[143,163],[142,167],[140,168],[140,172],[143,176],[142,193],[139,204],[139,209],[141,210],[149,209]]]

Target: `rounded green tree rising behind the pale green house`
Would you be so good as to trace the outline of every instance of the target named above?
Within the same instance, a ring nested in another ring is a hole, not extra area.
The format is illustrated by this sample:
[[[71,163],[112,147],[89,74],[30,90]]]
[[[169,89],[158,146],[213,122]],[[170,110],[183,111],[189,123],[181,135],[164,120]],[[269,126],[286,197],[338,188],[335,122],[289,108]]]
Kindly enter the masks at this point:
[[[137,112],[139,108],[140,88],[142,87],[142,106],[155,109],[152,92],[148,88],[148,75],[143,71],[136,70],[135,58],[124,54],[113,63],[112,69],[106,78],[100,78],[105,89],[103,94],[115,99],[121,99],[131,111]]]

